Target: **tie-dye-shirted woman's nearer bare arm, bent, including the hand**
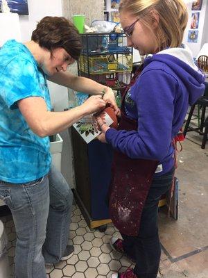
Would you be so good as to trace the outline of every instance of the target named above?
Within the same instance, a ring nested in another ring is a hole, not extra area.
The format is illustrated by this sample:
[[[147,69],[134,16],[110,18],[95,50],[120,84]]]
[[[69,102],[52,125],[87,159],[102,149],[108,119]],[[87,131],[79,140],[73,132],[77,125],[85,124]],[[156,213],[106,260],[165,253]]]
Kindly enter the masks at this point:
[[[84,104],[64,112],[47,111],[42,97],[21,99],[18,106],[32,131],[40,137],[45,137],[63,131],[83,116],[105,108],[105,101],[101,96],[92,96]]]

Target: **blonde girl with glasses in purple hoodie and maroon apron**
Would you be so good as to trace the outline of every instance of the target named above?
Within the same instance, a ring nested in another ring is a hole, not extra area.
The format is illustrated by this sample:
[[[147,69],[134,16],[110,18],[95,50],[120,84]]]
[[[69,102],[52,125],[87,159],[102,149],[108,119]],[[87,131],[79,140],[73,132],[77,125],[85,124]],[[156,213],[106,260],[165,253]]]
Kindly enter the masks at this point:
[[[99,140],[114,148],[110,218],[123,238],[110,244],[136,262],[112,278],[156,278],[159,198],[173,184],[174,139],[204,91],[204,76],[182,44],[182,0],[121,0],[119,13],[128,46],[147,58],[123,93],[119,130],[98,118]]]

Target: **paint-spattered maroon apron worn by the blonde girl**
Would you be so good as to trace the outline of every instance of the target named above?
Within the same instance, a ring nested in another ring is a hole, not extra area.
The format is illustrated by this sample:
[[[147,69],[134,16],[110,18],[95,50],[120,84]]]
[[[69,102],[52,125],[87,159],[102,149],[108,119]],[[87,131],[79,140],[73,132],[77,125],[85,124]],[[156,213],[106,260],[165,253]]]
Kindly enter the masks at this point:
[[[135,73],[130,85],[125,89],[121,104],[119,129],[137,131],[137,120],[125,115],[125,95],[135,83],[141,69]],[[121,234],[137,236],[144,203],[148,195],[158,161],[132,159],[114,151],[112,163],[112,183],[110,190],[110,218]]]

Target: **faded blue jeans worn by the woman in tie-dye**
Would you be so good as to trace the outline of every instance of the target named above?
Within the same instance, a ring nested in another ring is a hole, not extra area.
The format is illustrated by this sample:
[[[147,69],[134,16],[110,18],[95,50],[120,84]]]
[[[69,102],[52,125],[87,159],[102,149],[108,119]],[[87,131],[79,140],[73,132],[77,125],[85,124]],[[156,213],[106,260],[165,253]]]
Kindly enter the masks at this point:
[[[0,181],[0,198],[12,212],[17,233],[16,278],[46,278],[45,263],[57,263],[69,236],[73,194],[54,166],[29,183]]]

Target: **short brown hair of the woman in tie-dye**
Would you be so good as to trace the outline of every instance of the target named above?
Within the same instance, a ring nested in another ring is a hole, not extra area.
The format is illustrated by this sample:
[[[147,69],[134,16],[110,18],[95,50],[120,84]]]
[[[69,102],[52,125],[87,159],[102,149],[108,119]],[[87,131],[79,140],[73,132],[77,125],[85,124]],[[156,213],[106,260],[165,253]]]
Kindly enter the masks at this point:
[[[37,24],[31,39],[49,51],[62,47],[78,60],[82,44],[77,28],[64,17],[44,17]]]

